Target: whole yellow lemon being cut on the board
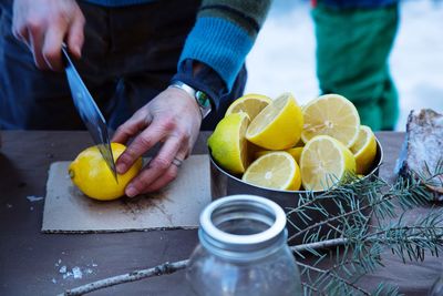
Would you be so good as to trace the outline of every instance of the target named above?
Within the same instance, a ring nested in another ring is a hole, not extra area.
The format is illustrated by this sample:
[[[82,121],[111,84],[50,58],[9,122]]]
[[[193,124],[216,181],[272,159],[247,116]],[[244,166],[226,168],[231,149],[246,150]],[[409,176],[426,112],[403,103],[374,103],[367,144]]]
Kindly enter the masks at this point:
[[[125,151],[126,146],[111,143],[114,161]],[[69,166],[69,174],[81,192],[91,198],[111,201],[124,195],[130,181],[142,169],[142,157],[124,174],[117,174],[119,182],[107,166],[97,146],[83,150]]]

